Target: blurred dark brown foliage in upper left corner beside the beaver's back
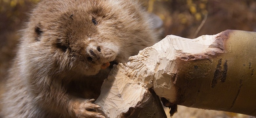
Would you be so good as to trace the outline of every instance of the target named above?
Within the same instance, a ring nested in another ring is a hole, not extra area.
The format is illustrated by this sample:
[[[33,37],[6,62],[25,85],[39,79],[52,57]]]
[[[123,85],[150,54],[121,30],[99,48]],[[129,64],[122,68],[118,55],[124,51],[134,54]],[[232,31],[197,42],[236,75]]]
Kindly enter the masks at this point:
[[[15,53],[23,22],[32,4],[39,0],[0,0],[0,82],[6,76],[9,63]]]

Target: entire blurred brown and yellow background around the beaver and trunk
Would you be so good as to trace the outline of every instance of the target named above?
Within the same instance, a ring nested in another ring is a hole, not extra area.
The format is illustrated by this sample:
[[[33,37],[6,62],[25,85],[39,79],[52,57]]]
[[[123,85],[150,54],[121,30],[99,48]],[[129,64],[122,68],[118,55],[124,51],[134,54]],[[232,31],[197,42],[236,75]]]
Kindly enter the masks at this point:
[[[0,0],[0,87],[7,74],[19,30],[40,0]],[[224,30],[256,31],[256,0],[139,0],[163,21],[164,36],[196,38]],[[1,89],[0,89],[1,92]],[[167,116],[169,108],[165,108]],[[172,118],[255,118],[224,111],[178,106]]]

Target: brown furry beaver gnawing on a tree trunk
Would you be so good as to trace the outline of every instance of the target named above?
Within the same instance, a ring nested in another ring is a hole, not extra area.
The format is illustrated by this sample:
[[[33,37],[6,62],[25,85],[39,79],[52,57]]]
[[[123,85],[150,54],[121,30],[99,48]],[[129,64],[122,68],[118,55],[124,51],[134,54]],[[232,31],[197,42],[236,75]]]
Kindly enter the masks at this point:
[[[43,0],[32,11],[1,97],[3,118],[102,118],[93,104],[110,68],[156,43],[130,0]]]

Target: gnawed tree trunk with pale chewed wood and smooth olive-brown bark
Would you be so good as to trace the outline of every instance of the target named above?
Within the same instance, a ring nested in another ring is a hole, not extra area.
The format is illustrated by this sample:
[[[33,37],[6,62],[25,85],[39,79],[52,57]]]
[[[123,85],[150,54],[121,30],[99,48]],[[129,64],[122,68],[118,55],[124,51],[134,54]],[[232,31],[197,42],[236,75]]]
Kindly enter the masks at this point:
[[[256,32],[170,35],[129,60],[112,69],[96,100],[109,118],[165,117],[150,88],[174,104],[256,116]],[[143,108],[154,110],[136,114]]]

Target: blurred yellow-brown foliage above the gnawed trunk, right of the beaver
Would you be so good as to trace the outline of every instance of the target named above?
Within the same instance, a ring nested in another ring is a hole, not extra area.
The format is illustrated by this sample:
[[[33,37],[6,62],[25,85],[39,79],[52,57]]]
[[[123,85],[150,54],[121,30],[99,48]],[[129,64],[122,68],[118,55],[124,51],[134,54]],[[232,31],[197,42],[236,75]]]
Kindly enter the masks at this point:
[[[140,0],[164,21],[165,35],[186,38],[221,31],[256,31],[255,0]]]

